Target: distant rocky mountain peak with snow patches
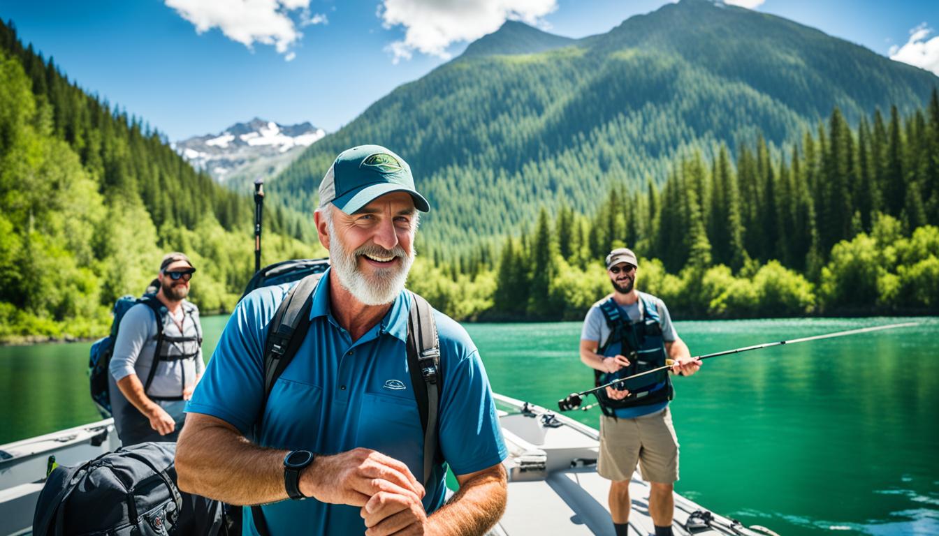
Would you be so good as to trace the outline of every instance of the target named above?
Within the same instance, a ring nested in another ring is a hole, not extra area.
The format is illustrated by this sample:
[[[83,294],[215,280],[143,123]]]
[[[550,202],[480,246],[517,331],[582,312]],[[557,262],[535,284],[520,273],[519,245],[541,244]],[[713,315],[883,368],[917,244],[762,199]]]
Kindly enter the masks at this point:
[[[255,178],[271,178],[297,159],[302,149],[326,135],[309,122],[280,125],[255,117],[217,134],[176,142],[176,149],[197,169],[226,186],[239,188]]]

